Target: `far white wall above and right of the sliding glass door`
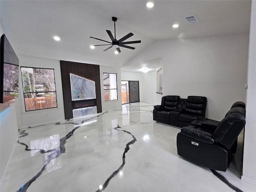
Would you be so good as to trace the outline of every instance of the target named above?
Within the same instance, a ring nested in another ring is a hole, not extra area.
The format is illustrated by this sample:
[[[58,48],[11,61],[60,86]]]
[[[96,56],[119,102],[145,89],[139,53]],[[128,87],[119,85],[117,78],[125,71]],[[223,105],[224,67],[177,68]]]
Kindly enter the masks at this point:
[[[121,72],[122,81],[139,81],[140,86],[140,102],[161,103],[161,94],[156,93],[156,72],[134,73]],[[149,86],[150,85],[150,86]]]

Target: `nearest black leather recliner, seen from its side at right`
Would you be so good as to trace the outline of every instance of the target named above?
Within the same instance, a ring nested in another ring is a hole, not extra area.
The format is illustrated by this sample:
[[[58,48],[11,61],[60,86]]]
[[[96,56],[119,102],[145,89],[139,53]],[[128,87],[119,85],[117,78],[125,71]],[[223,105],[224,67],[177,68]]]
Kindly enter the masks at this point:
[[[200,166],[226,171],[245,125],[245,104],[236,102],[225,118],[195,120],[177,134],[178,155]]]

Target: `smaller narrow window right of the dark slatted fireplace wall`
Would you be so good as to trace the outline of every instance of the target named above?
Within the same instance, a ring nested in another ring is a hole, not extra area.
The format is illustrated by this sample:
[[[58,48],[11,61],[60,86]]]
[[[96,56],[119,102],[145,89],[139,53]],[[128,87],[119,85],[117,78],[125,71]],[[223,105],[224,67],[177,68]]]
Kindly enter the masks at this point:
[[[103,73],[104,101],[117,100],[117,81],[115,73]]]

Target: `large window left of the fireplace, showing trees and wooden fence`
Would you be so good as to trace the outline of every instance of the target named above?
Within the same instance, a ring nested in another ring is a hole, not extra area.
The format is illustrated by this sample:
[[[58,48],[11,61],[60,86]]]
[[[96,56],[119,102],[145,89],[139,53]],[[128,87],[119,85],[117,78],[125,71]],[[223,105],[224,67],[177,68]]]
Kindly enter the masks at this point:
[[[54,69],[21,67],[26,111],[56,108]]]

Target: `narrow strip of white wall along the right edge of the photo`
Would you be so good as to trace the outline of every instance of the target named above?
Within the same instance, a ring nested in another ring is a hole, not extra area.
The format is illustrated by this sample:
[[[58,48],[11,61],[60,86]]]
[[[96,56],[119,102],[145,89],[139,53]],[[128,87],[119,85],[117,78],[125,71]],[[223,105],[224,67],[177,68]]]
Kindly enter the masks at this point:
[[[252,1],[242,180],[256,185],[256,0]]]

